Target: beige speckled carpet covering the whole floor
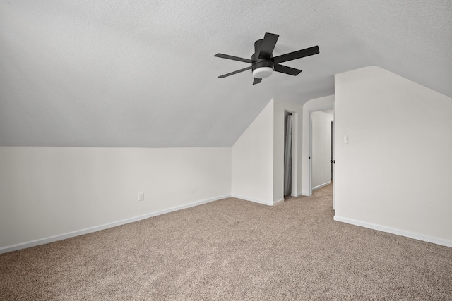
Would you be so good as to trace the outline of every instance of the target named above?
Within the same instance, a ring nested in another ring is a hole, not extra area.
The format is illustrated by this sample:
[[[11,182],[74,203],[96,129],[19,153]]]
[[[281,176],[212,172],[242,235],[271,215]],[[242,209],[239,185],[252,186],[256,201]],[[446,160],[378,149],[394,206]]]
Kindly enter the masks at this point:
[[[0,300],[452,300],[452,248],[333,221],[332,185],[0,255]]]

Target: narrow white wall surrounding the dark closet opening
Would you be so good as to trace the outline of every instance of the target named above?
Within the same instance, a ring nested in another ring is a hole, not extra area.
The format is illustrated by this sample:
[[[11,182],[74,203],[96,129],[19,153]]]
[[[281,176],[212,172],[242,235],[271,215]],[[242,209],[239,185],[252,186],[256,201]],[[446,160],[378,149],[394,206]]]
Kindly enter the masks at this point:
[[[292,112],[292,192],[302,191],[302,119],[303,107],[275,99],[273,131],[273,202],[284,199],[284,111]]]

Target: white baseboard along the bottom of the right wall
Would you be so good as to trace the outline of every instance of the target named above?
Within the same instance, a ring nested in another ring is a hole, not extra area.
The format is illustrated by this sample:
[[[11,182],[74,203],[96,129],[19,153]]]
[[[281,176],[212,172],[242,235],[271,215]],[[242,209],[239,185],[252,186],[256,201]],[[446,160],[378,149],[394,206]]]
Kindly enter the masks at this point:
[[[357,221],[356,219],[348,219],[346,217],[337,216],[335,215],[333,218],[335,221],[341,221],[343,223],[350,223],[355,226],[360,226],[364,228],[370,228],[382,232],[392,233],[400,236],[405,236],[406,238],[413,238],[415,240],[422,240],[424,242],[432,242],[436,245],[444,245],[446,247],[452,247],[452,241],[451,240],[444,240],[441,238],[434,238],[432,236],[426,236],[422,234],[412,233],[409,231],[403,231],[396,228],[386,227],[377,225],[375,223],[367,223],[365,221]]]

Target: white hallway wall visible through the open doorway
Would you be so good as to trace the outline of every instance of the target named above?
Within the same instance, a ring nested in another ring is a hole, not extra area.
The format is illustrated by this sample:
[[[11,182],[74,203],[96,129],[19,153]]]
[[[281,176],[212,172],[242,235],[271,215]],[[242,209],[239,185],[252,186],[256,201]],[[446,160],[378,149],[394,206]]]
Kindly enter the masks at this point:
[[[312,126],[312,189],[331,183],[331,121],[333,115],[322,111],[311,113]]]

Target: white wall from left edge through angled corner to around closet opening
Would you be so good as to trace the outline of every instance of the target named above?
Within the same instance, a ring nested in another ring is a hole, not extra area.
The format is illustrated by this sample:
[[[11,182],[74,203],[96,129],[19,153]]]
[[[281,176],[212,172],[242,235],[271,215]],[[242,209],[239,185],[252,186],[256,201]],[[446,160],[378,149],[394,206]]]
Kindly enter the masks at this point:
[[[294,115],[292,195],[297,195],[302,107],[273,99],[233,147],[0,147],[0,252],[230,195],[273,205],[284,197],[285,110]]]

